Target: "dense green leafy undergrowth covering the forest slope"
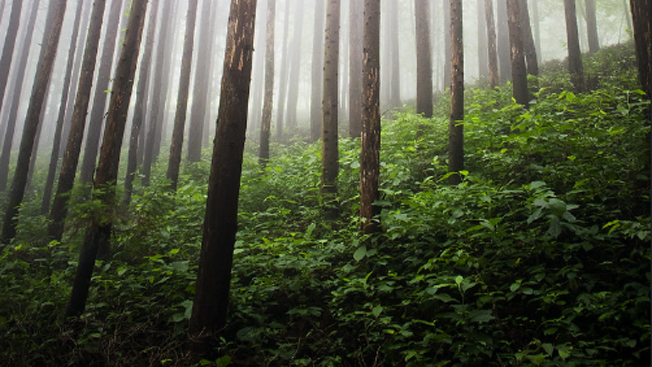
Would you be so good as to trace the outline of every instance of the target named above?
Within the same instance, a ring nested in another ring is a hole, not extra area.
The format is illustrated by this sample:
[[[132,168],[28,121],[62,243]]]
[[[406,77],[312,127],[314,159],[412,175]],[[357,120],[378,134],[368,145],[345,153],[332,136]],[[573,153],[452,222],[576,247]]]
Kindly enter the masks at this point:
[[[631,56],[612,52],[589,70]],[[39,241],[28,202],[0,259],[0,365],[650,365],[649,102],[635,74],[607,75],[574,94],[546,74],[527,110],[509,86],[468,91],[455,187],[445,98],[432,119],[383,121],[379,234],[357,231],[358,140],[340,143],[332,222],[317,143],[274,145],[264,170],[248,152],[229,325],[203,361],[186,327],[207,162],[176,194],[159,176],[129,207],[74,204],[62,244]],[[113,259],[64,323],[92,215],[117,220]]]

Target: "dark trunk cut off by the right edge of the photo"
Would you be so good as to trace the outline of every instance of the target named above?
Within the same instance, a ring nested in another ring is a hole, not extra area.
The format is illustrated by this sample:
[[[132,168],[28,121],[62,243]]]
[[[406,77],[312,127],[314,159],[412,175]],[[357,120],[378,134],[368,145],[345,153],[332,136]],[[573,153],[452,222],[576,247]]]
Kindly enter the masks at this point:
[[[652,39],[650,37],[650,18],[652,4],[649,1],[630,0],[632,22],[634,26],[634,43],[638,63],[638,79],[647,98],[650,94],[650,70],[652,69]]]

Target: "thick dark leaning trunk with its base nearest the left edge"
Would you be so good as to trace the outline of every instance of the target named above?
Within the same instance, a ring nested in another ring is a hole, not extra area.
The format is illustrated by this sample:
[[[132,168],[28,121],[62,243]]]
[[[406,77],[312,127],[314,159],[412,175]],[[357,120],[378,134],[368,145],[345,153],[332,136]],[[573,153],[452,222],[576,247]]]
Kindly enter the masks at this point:
[[[29,162],[34,148],[36,131],[40,122],[41,109],[45,100],[47,86],[50,83],[54,60],[59,45],[59,36],[63,25],[63,17],[66,11],[66,0],[58,0],[50,3],[48,12],[52,12],[52,28],[48,30],[49,36],[47,42],[42,46],[43,52],[40,55],[36,68],[36,78],[32,87],[32,94],[29,100],[25,125],[23,127],[23,136],[18,151],[18,161],[16,163],[16,172],[11,184],[9,194],[9,204],[5,212],[2,238],[0,243],[8,244],[16,236],[16,226],[18,225],[18,215],[20,204],[23,202],[25,188],[27,185],[27,176],[29,173]],[[48,15],[50,17],[50,15]]]

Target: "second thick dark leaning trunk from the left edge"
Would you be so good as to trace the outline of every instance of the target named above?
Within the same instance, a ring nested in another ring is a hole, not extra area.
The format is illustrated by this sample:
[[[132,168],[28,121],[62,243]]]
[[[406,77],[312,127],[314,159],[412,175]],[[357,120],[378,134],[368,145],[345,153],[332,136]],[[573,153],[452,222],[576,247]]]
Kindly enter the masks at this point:
[[[97,63],[97,49],[100,42],[100,34],[102,33],[105,5],[106,0],[95,0],[93,3],[90,27],[86,37],[86,47],[82,60],[82,72],[75,97],[75,109],[70,120],[70,133],[68,135],[63,161],[61,162],[57,192],[54,196],[52,208],[50,209],[48,236],[57,241],[61,241],[63,237],[70,191],[75,183],[79,153],[81,152],[81,143],[86,127],[86,113],[88,112],[91,90],[93,88],[93,73],[95,72],[95,65]]]

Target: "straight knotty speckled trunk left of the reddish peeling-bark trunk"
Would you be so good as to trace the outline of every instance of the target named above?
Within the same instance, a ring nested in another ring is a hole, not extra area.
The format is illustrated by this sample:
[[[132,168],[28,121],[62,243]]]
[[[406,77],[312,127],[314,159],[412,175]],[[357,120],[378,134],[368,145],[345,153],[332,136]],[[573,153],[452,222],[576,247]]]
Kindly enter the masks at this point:
[[[327,6],[321,130],[321,192],[326,218],[334,219],[339,213],[336,201],[339,173],[337,92],[339,90],[340,0],[328,0]]]

